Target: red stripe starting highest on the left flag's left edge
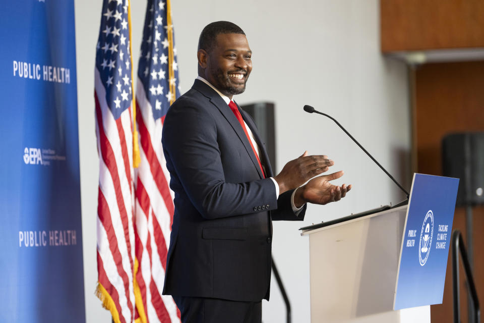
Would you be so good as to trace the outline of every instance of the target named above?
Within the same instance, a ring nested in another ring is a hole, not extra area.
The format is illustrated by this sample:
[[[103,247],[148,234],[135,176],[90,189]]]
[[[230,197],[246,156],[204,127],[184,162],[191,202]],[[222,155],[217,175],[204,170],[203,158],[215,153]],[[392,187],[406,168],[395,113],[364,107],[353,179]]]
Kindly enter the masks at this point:
[[[95,91],[94,91],[95,92]],[[131,271],[133,272],[133,258],[131,257],[131,242],[130,242],[130,231],[129,231],[129,225],[128,225],[128,213],[126,212],[125,208],[125,202],[123,199],[123,193],[121,189],[121,185],[119,182],[119,176],[117,174],[117,165],[116,165],[116,160],[114,157],[114,152],[112,150],[111,144],[109,143],[109,140],[107,139],[106,134],[104,133],[104,126],[102,123],[102,113],[101,113],[101,106],[99,104],[99,100],[97,98],[97,93],[95,93],[94,98],[96,100],[96,117],[97,117],[97,124],[99,128],[99,143],[100,143],[100,149],[101,149],[101,154],[102,154],[102,159],[104,160],[104,164],[106,164],[106,167],[109,170],[109,173],[111,175],[112,182],[114,184],[114,190],[116,193],[116,201],[117,201],[117,206],[119,208],[119,215],[121,217],[121,222],[123,223],[123,230],[124,234],[126,237],[126,246],[128,248],[128,256],[130,259],[130,264],[131,264]],[[131,182],[131,181],[129,181]],[[130,196],[131,196],[131,191],[130,191]]]

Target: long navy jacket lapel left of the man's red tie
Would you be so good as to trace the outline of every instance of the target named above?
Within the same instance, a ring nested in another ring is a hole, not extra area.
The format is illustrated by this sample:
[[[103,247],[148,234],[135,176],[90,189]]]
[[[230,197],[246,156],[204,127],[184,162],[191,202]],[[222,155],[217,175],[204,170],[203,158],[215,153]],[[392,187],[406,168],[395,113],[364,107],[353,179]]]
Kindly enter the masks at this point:
[[[205,84],[200,80],[195,80],[195,83],[193,84],[193,88],[199,91],[200,93],[202,93],[203,95],[205,95],[206,97],[208,97],[210,99],[210,102],[217,107],[217,109],[220,111],[220,113],[223,115],[223,117],[228,121],[232,129],[235,131],[241,143],[246,148],[247,153],[252,159],[252,163],[254,164],[254,167],[259,173],[259,176],[261,178],[264,178],[264,175],[262,174],[261,168],[259,167],[259,163],[256,159],[256,156],[254,155],[254,151],[252,150],[252,146],[249,143],[249,139],[247,138],[246,133],[244,132],[244,129],[242,129],[242,127],[240,126],[240,123],[238,122],[237,118],[235,118],[235,115],[230,110],[230,107],[228,107],[227,103],[225,103],[222,97],[217,92],[215,92],[210,86],[208,86],[207,84]],[[252,131],[252,133],[254,134],[254,131]],[[260,140],[258,141],[260,142]],[[264,149],[262,148],[261,150],[264,150]]]

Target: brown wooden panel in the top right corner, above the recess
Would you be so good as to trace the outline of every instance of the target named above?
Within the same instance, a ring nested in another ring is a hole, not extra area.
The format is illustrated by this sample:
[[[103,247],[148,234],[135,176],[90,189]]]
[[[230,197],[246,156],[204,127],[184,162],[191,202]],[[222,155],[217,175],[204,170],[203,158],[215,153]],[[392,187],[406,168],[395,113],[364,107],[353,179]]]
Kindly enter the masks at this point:
[[[380,0],[383,52],[484,47],[482,0]]]

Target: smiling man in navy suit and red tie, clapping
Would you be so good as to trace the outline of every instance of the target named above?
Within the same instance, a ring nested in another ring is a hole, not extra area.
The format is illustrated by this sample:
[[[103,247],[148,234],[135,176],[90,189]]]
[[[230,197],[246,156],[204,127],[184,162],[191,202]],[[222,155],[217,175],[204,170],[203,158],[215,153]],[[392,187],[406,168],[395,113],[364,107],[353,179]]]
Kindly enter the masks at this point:
[[[183,322],[261,322],[269,299],[272,220],[303,220],[306,203],[326,204],[351,186],[330,180],[333,161],[307,153],[273,176],[248,114],[233,102],[252,70],[244,32],[229,22],[200,35],[193,87],[170,107],[163,149],[175,193],[163,294]]]

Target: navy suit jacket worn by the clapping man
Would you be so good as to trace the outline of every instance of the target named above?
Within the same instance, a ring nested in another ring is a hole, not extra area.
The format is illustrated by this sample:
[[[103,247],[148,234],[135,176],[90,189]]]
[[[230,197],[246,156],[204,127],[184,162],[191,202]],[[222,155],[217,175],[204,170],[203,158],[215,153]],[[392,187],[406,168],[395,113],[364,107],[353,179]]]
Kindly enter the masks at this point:
[[[269,159],[251,117],[240,111]],[[269,299],[272,220],[302,220],[291,191],[276,197],[246,134],[220,95],[200,80],[170,107],[163,151],[175,194],[163,294]]]

